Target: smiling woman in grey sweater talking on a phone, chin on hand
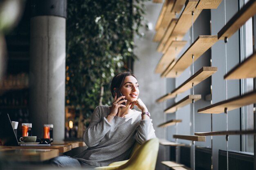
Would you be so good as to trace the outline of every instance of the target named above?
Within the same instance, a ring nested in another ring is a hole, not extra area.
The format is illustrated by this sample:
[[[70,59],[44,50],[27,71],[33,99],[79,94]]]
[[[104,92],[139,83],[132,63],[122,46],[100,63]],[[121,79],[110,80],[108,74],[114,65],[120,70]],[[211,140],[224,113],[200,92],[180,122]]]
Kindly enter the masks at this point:
[[[148,109],[138,98],[136,77],[131,72],[119,73],[112,79],[110,91],[114,97],[112,106],[97,106],[83,135],[88,149],[66,161],[76,159],[82,166],[108,166],[128,159],[136,141],[142,144],[155,137]],[[119,92],[123,96],[117,97]],[[134,105],[141,112],[132,110]]]

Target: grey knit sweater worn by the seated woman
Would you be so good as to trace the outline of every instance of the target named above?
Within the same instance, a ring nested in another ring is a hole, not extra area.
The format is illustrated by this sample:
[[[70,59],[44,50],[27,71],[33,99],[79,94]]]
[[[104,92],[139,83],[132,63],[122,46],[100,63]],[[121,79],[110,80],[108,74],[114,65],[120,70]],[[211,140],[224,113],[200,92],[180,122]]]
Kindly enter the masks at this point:
[[[155,137],[152,119],[141,120],[141,112],[132,110],[130,117],[115,116],[111,123],[106,117],[109,106],[95,108],[90,125],[83,135],[88,146],[75,158],[91,166],[108,166],[112,162],[128,159],[135,142],[142,144]]]

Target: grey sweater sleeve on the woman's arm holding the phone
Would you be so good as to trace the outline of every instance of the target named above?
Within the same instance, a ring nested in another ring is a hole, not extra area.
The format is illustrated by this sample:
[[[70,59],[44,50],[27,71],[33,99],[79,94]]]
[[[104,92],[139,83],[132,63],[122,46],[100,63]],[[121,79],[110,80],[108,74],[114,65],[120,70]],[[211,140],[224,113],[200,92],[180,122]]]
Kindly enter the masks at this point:
[[[83,140],[89,148],[97,146],[111,128],[106,117],[102,120],[101,117],[103,116],[98,106],[92,113],[90,124],[83,134]]]

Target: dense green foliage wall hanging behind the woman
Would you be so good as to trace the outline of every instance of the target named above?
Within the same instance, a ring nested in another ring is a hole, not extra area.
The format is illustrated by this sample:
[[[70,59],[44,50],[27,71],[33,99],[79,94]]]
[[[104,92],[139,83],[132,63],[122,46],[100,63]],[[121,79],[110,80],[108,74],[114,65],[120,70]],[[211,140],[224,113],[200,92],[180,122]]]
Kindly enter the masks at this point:
[[[145,0],[68,0],[66,105],[90,117],[99,105],[110,105],[112,77],[135,59],[133,34],[143,25]]]

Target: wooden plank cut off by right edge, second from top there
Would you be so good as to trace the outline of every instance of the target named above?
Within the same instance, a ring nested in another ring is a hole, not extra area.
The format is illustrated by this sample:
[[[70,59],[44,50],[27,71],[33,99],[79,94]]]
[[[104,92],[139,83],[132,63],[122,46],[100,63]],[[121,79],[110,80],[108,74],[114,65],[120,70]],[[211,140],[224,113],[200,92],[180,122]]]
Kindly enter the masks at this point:
[[[229,71],[224,79],[246,79],[256,77],[256,53],[253,53]]]

